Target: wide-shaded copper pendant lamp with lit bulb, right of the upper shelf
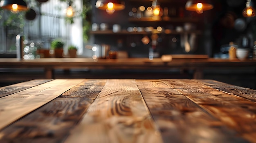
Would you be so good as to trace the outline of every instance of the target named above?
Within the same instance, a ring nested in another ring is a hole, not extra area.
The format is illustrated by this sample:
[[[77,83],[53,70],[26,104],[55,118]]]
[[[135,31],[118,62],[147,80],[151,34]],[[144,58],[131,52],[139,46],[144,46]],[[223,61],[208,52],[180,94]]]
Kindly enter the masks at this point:
[[[213,5],[209,0],[188,0],[185,8],[188,11],[196,11],[198,14],[202,14],[204,11],[213,9]]]

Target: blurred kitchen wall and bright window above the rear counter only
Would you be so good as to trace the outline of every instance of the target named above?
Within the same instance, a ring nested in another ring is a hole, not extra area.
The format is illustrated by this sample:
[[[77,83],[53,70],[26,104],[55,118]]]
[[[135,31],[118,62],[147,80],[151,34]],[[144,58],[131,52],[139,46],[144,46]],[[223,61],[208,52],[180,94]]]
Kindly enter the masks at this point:
[[[156,19],[151,10],[154,2],[161,9]],[[109,14],[96,7],[97,0],[27,0],[27,12],[0,10],[0,55],[15,57],[19,33],[37,49],[50,49],[54,39],[61,39],[66,54],[67,47],[75,45],[81,57],[92,57],[97,53],[91,47],[105,44],[128,57],[148,57],[153,51],[156,57],[207,54],[227,58],[229,42],[252,49],[256,24],[255,17],[242,15],[247,0],[211,0],[213,9],[202,14],[186,10],[186,2],[124,0],[125,9]],[[69,6],[74,11],[71,17],[65,13]]]

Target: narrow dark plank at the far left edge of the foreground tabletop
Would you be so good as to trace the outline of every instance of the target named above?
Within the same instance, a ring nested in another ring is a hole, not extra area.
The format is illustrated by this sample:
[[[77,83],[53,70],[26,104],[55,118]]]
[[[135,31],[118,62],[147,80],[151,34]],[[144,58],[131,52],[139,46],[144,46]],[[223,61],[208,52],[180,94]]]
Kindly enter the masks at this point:
[[[36,79],[36,80],[31,80],[31,81],[26,81],[18,84],[13,84],[10,86],[4,86],[0,88],[0,98],[11,95],[13,93],[38,86],[40,84],[44,84],[45,82],[51,81],[53,79]]]

